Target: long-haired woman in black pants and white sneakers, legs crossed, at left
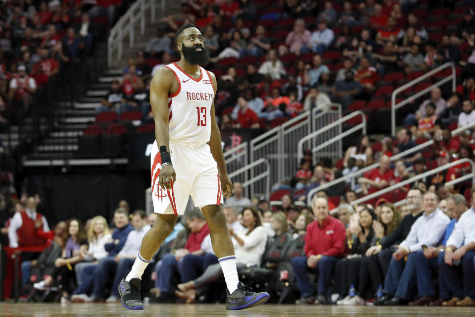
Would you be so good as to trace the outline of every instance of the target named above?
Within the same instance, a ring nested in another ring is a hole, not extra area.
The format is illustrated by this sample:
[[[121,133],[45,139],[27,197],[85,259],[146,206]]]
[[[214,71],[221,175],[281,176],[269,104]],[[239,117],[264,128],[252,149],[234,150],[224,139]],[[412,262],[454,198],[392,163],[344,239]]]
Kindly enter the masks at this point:
[[[61,285],[61,302],[67,303],[72,293],[71,283],[74,281],[74,266],[83,260],[81,253],[87,250],[88,240],[84,227],[76,218],[71,218],[68,224],[68,235],[64,240],[64,250],[61,258],[54,261],[56,269],[43,281],[33,284],[39,290],[45,290],[54,281]]]

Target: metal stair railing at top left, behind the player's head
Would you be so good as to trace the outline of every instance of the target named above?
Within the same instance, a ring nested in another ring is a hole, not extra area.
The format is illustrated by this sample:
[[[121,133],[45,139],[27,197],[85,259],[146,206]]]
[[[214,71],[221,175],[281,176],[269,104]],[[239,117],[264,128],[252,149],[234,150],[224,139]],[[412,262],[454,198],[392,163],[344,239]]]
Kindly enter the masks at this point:
[[[135,25],[140,22],[140,34],[145,33],[145,13],[150,8],[150,21],[155,23],[155,0],[137,0],[112,27],[107,39],[107,65],[112,66],[112,52],[117,51],[117,59],[122,58],[123,40],[129,36],[129,47],[134,46]],[[165,0],[161,0],[161,10],[165,11]]]

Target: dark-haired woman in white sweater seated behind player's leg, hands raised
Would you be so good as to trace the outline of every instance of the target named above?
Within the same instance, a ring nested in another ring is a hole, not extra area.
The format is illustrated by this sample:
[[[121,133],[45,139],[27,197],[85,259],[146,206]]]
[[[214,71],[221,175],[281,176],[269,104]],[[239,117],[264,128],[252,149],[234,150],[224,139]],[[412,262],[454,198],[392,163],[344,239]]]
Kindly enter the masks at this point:
[[[236,254],[236,267],[238,272],[250,266],[260,266],[262,255],[266,249],[267,232],[262,226],[261,214],[255,207],[246,207],[242,211],[242,220],[244,229],[234,232],[229,229],[231,234],[234,252]],[[193,281],[178,284],[179,291],[176,295],[187,299],[190,303],[201,293],[205,286],[223,276],[223,271],[219,263],[212,264],[206,268],[204,273]]]

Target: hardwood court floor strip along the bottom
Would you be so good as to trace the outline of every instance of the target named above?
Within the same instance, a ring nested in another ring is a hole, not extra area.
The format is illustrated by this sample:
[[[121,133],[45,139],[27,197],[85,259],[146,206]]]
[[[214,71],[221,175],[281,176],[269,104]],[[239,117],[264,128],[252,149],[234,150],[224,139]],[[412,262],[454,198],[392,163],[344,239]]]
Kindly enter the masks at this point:
[[[94,316],[94,317],[275,317],[275,316],[475,316],[475,307],[371,307],[371,306],[296,306],[263,305],[242,311],[226,311],[224,305],[150,304],[143,311],[126,310],[120,304],[58,304],[0,302],[0,316]]]

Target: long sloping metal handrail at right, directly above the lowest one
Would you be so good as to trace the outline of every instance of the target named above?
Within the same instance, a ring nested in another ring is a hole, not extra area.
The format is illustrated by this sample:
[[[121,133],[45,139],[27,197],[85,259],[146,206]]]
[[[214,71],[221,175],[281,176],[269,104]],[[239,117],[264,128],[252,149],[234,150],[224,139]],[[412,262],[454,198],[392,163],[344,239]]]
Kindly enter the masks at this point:
[[[453,130],[453,131],[451,132],[451,134],[452,134],[452,136],[456,136],[457,134],[459,134],[459,133],[461,133],[461,132],[463,132],[463,131],[465,131],[465,130],[467,130],[467,129],[469,129],[469,128],[472,128],[472,127],[475,127],[475,122],[472,122],[472,123],[466,124],[466,125],[464,125],[464,126],[461,126],[460,128],[457,128],[457,129]],[[427,142],[424,142],[424,143],[422,143],[422,144],[420,144],[420,145],[418,145],[418,146],[415,146],[414,148],[410,148],[410,149],[408,149],[408,150],[406,150],[406,151],[404,151],[404,152],[401,152],[401,153],[398,153],[398,154],[396,154],[396,155],[393,155],[393,156],[390,157],[389,159],[390,159],[391,161],[394,161],[394,160],[396,160],[396,159],[400,159],[400,158],[402,158],[402,157],[405,157],[405,156],[408,155],[408,154],[413,154],[413,153],[415,153],[415,152],[418,152],[418,151],[421,150],[421,149],[427,148],[428,146],[431,146],[433,143],[434,143],[434,140],[428,140]],[[346,180],[348,180],[348,179],[353,179],[353,180],[352,180],[352,187],[354,187],[354,185],[355,185],[355,184],[354,184],[354,178],[355,178],[356,176],[361,175],[362,173],[365,173],[365,172],[370,171],[370,170],[372,170],[373,168],[377,168],[377,167],[380,167],[380,162],[373,163],[373,164],[371,164],[371,165],[369,165],[369,166],[366,166],[366,167],[364,167],[364,168],[362,168],[362,169],[359,169],[359,170],[357,170],[357,171],[355,171],[355,172],[351,172],[351,173],[349,173],[349,174],[347,174],[347,175],[345,175],[345,176],[342,176],[342,177],[340,177],[340,178],[333,179],[332,181],[330,181],[330,182],[328,182],[328,183],[326,183],[326,184],[323,184],[323,185],[321,185],[321,186],[318,186],[318,187],[316,187],[316,188],[310,190],[310,192],[308,193],[308,197],[312,197],[313,194],[315,194],[316,192],[321,191],[321,190],[324,190],[324,189],[327,189],[327,188],[329,188],[329,187],[331,187],[331,186],[333,186],[333,185],[335,185],[335,184],[339,184],[339,183],[344,182],[344,181],[346,181]],[[310,201],[310,199],[308,199],[308,201]]]

